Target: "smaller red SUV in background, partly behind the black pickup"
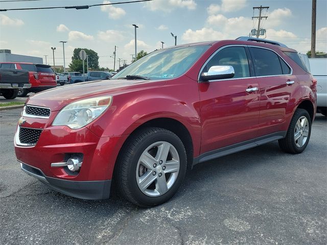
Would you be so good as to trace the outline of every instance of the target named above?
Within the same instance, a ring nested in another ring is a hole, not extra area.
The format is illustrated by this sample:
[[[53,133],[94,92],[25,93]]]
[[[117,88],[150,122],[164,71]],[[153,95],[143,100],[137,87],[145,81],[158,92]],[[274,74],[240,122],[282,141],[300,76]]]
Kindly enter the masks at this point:
[[[3,62],[0,63],[0,67],[29,71],[31,88],[20,89],[18,91],[18,96],[20,97],[25,97],[29,92],[36,93],[57,86],[56,75],[50,65],[25,62]]]

